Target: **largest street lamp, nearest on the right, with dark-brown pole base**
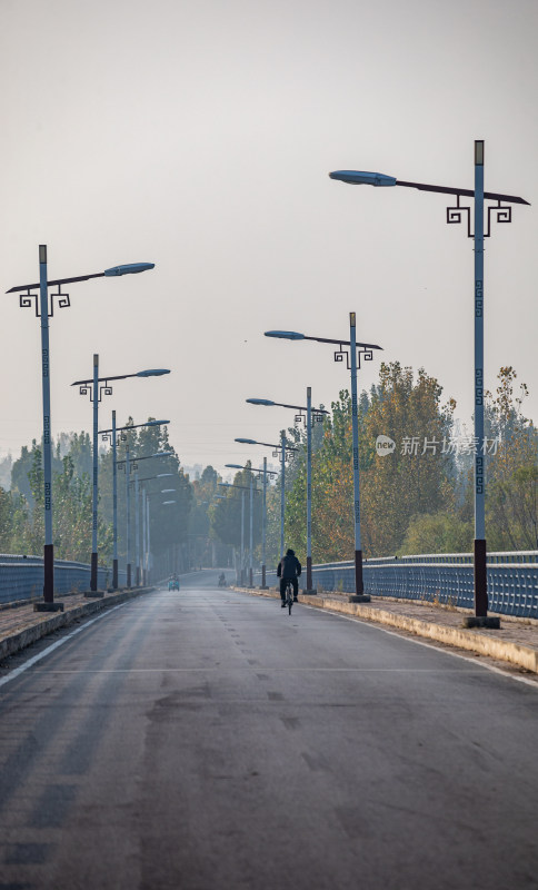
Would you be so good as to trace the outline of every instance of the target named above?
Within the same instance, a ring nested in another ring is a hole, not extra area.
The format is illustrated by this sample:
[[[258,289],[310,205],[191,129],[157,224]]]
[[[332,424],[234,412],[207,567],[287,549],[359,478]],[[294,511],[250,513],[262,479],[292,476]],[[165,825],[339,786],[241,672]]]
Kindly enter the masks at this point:
[[[405,186],[421,191],[456,195],[456,207],[447,207],[447,222],[467,221],[467,236],[475,245],[475,617],[466,619],[468,626],[498,627],[498,617],[488,617],[487,548],[486,548],[486,439],[484,437],[484,239],[491,235],[491,219],[511,222],[511,205],[528,205],[525,198],[484,190],[484,140],[475,140],[475,189],[430,186],[425,182],[406,182],[393,176],[359,170],[336,170],[329,174],[349,185]],[[471,208],[461,206],[461,196],[474,198],[475,231],[471,231]],[[484,226],[484,201],[497,201],[488,206],[488,220]]]

